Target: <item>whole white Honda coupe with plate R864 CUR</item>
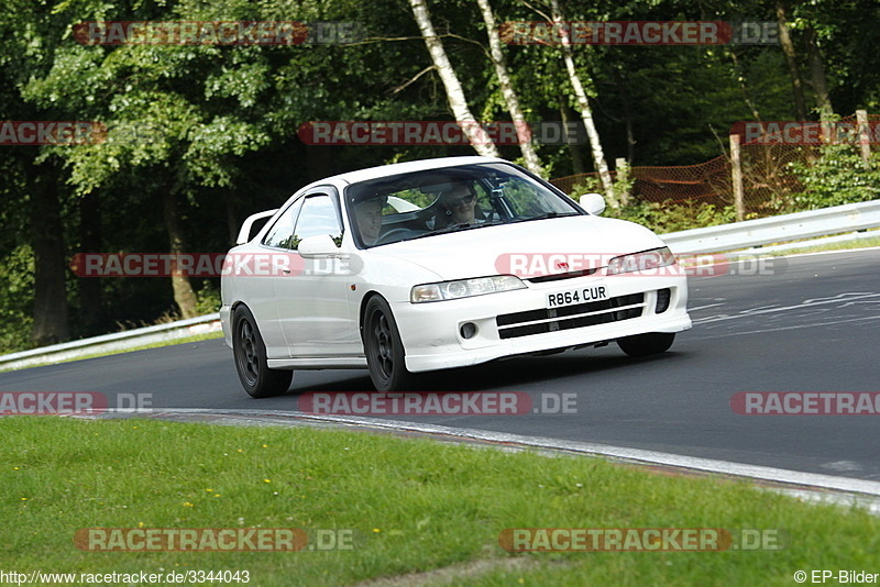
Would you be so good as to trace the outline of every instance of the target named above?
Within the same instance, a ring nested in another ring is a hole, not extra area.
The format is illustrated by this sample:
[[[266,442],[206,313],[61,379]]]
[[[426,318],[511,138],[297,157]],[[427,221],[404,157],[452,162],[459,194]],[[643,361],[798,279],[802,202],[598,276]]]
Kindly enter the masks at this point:
[[[227,256],[220,318],[241,383],[267,397],[294,369],[367,368],[392,391],[415,373],[612,341],[661,353],[691,328],[686,277],[657,235],[604,208],[491,157],[310,184],[249,218]]]

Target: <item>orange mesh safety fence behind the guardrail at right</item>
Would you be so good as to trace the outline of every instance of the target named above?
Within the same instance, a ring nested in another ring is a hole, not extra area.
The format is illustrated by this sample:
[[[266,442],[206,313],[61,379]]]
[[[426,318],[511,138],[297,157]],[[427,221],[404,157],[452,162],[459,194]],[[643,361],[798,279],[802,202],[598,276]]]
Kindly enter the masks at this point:
[[[869,115],[869,124],[880,123],[880,115]],[[846,117],[838,123],[856,123],[856,117]],[[858,145],[854,146],[858,148]],[[871,145],[877,149],[876,144]],[[746,213],[766,217],[778,213],[791,201],[792,196],[803,190],[801,182],[790,169],[790,164],[810,164],[821,154],[821,144],[791,144],[783,141],[756,140],[740,145],[743,169],[743,201]],[[734,204],[732,165],[728,153],[697,165],[674,167],[630,167],[632,180],[629,203],[645,202],[704,202],[718,207]],[[612,171],[616,181],[617,173]],[[597,182],[598,174],[578,174],[550,182],[571,193],[584,182]]]

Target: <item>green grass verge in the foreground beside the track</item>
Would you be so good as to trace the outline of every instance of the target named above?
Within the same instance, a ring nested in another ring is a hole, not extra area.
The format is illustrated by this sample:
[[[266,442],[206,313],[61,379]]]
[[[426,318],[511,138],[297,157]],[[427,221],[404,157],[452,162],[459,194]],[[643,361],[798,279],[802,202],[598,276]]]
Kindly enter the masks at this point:
[[[260,587],[351,585],[449,567],[465,574],[454,584],[485,586],[790,586],[799,569],[880,571],[880,519],[864,510],[598,458],[160,420],[6,417],[0,434],[4,571],[246,569]],[[76,531],[96,527],[343,530],[353,532],[354,549],[78,550]],[[771,529],[789,539],[762,552],[514,554],[498,544],[507,528]],[[488,564],[468,566],[479,561]]]

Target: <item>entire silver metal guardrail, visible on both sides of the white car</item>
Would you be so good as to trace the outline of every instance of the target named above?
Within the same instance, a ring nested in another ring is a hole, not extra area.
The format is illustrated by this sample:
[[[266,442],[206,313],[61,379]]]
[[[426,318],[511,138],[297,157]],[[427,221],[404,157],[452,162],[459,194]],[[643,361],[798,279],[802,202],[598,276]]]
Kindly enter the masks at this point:
[[[770,243],[799,241],[873,228],[880,228],[880,200],[848,203],[759,220],[747,220],[721,226],[673,232],[662,234],[660,237],[663,239],[673,253],[684,255],[735,251]],[[844,236],[824,241],[829,242],[833,240],[854,240],[854,237]],[[810,244],[812,243],[798,243],[793,246]],[[767,252],[771,250],[781,251],[783,247],[762,248],[762,251]],[[218,331],[220,331],[220,315],[215,313],[168,324],[129,330],[3,355],[0,356],[0,370],[69,361],[92,354],[129,351],[138,346]]]

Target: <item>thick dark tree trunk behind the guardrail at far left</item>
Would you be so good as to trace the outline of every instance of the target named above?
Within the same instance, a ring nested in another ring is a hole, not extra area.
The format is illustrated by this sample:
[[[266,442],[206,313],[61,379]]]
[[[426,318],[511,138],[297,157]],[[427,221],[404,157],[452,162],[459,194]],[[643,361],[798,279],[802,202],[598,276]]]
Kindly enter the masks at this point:
[[[58,186],[54,173],[31,169],[31,243],[34,250],[34,323],[31,343],[45,346],[70,339],[67,257]]]

